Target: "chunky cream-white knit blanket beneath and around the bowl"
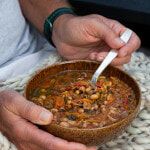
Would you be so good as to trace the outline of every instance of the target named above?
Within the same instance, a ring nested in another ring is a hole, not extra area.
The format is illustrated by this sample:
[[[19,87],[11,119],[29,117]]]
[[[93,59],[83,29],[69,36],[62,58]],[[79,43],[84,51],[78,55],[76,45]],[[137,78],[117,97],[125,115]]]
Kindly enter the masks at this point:
[[[36,70],[60,62],[62,59],[53,53],[49,59],[37,66]],[[126,71],[139,83],[142,91],[142,105],[138,117],[131,126],[118,138],[102,145],[102,150],[150,150],[150,57],[136,52],[132,61],[125,65]],[[24,86],[35,70],[27,74],[9,79],[0,84],[2,88],[12,88],[23,92]],[[0,150],[16,150],[16,147],[0,133]]]

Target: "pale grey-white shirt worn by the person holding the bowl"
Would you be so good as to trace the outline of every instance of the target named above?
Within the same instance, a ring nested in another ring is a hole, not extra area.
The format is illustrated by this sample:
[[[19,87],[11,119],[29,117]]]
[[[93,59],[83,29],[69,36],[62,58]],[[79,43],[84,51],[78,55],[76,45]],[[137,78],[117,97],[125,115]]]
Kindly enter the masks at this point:
[[[53,48],[45,44],[25,20],[18,0],[0,0],[0,80],[27,72],[48,57]]]

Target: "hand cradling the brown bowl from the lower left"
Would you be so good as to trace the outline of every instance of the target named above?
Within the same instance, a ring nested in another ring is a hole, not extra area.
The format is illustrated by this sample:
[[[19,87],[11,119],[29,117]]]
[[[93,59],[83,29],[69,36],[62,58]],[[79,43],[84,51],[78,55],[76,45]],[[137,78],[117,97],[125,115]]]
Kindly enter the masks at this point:
[[[13,91],[0,93],[0,131],[19,150],[96,150],[54,137],[34,124],[46,125],[52,114]]]

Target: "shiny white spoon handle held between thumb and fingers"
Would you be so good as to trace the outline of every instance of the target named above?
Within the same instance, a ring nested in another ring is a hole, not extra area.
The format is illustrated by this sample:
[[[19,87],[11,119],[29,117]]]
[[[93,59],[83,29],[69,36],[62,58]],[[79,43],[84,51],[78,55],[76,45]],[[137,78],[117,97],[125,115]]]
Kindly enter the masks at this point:
[[[132,31],[127,29],[121,36],[120,39],[127,43],[132,35]],[[112,60],[117,57],[118,53],[116,50],[112,49],[108,55],[105,57],[103,62],[100,64],[94,75],[92,76],[92,83],[96,83],[99,75],[104,71],[104,69],[112,62]]]

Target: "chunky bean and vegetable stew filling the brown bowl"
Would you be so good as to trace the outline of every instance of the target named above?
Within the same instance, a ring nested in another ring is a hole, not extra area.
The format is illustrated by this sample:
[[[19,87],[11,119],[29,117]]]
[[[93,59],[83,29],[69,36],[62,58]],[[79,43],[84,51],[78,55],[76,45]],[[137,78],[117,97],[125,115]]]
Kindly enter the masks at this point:
[[[135,95],[126,83],[100,76],[94,87],[91,77],[90,71],[61,72],[41,81],[30,98],[53,113],[53,123],[69,128],[104,127],[134,110]]]

